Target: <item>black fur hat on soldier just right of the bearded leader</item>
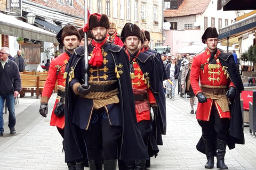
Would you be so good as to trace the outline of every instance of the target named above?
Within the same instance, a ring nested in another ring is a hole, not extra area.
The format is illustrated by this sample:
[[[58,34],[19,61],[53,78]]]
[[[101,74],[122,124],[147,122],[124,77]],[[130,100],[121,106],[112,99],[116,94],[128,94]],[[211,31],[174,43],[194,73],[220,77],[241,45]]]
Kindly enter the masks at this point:
[[[140,28],[136,24],[127,22],[121,32],[121,40],[124,42],[125,38],[129,36],[137,36],[140,39]]]

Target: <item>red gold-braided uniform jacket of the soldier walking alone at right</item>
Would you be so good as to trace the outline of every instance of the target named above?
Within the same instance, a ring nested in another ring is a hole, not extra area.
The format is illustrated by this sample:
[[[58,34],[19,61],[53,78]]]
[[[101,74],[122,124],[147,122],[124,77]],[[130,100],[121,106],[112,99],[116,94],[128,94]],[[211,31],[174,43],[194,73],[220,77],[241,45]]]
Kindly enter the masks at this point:
[[[217,51],[215,58],[218,57],[220,51]],[[231,80],[225,74],[225,71],[222,71],[222,65],[219,59],[216,60],[217,69],[209,69],[209,60],[211,57],[211,53],[209,49],[206,48],[205,52],[199,54],[194,57],[194,61],[191,66],[191,73],[190,73],[190,84],[193,88],[194,94],[197,95],[199,92],[202,92],[201,88],[199,87],[198,82],[201,84],[205,84],[208,86],[234,86]],[[205,64],[204,69],[201,69],[201,64]],[[199,81],[200,80],[200,81]],[[196,118],[198,120],[209,121],[211,109],[213,106],[213,102],[217,106],[218,113],[221,118],[227,117],[230,118],[230,112],[222,112],[220,106],[213,100],[207,99],[205,103],[198,103],[197,111],[196,111]]]

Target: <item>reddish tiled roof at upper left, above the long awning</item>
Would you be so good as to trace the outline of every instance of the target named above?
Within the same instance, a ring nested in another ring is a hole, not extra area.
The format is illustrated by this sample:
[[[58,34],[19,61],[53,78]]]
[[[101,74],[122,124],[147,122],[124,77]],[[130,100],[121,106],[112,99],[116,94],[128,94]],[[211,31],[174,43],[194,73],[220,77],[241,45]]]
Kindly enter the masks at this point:
[[[61,4],[59,4],[56,0],[47,0],[47,2],[43,0],[26,0],[32,3],[36,3],[39,5],[47,6],[54,8],[55,10],[59,10],[65,12],[67,15],[76,15],[76,16],[84,16],[84,9],[76,0],[73,1],[73,6],[69,6],[66,0],[61,0]],[[26,2],[25,1],[25,2]]]

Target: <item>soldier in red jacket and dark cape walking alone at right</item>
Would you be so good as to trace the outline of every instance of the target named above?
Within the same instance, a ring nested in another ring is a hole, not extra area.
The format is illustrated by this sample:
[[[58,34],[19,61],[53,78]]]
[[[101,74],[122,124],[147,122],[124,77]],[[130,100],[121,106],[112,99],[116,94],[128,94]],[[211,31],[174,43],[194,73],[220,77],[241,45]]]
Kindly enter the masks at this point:
[[[205,168],[213,168],[217,156],[217,168],[228,169],[226,146],[233,149],[235,143],[244,144],[240,104],[244,87],[233,56],[217,48],[218,36],[216,28],[205,30],[202,41],[207,48],[194,57],[190,83],[198,98],[196,118],[202,127],[197,150],[206,155]]]

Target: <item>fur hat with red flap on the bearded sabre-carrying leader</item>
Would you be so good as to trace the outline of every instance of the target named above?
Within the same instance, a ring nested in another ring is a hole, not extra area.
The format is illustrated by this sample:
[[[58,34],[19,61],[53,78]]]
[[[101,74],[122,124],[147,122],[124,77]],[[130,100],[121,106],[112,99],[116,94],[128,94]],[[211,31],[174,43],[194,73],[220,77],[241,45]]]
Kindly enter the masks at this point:
[[[88,23],[84,25],[83,31],[87,32],[95,27],[105,27],[106,29],[109,29],[110,23],[108,16],[98,13],[91,14],[88,18]]]

